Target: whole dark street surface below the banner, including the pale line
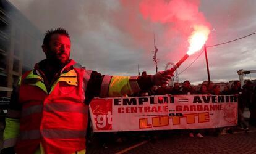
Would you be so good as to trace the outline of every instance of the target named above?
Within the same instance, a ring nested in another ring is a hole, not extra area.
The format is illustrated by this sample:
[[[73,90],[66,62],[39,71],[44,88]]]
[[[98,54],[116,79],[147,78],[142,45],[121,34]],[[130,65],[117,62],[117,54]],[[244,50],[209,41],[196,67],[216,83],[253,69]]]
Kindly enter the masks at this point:
[[[161,133],[161,132],[160,132]],[[248,132],[234,129],[233,134],[222,132],[218,137],[189,137],[187,133],[161,136],[155,142],[130,136],[117,144],[109,139],[108,148],[94,142],[87,153],[256,153],[256,128]]]

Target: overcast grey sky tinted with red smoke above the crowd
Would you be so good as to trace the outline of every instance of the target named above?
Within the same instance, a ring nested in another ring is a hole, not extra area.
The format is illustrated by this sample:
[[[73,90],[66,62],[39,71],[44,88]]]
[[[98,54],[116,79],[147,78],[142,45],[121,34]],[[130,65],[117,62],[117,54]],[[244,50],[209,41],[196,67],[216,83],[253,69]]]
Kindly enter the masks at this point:
[[[42,34],[59,26],[71,36],[71,58],[87,69],[108,75],[155,73],[152,60],[155,32],[158,70],[186,54],[195,24],[210,28],[207,46],[256,32],[255,0],[9,0]],[[211,80],[239,79],[239,69],[256,70],[256,34],[207,49]],[[43,52],[42,52],[43,54]],[[182,72],[200,52],[184,62]],[[179,75],[179,81],[207,80],[205,55]],[[256,79],[256,73],[251,74]],[[245,79],[250,79],[247,75]]]

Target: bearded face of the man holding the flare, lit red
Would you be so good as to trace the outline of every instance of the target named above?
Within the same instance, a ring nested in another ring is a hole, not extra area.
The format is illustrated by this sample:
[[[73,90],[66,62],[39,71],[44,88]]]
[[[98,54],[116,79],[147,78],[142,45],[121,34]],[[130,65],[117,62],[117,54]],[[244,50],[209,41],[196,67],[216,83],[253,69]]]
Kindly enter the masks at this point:
[[[49,41],[49,46],[44,49],[46,58],[64,65],[70,57],[70,39],[61,34],[53,34]]]

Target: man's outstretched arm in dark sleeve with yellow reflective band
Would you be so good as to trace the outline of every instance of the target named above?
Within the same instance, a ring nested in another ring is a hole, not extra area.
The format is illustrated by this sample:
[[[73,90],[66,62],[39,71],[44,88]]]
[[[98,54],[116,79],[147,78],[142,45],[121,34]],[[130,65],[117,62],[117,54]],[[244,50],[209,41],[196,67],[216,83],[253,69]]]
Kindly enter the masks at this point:
[[[108,76],[92,71],[85,92],[87,103],[93,97],[119,97],[150,89],[152,86],[168,84],[171,79],[166,71],[155,75]]]

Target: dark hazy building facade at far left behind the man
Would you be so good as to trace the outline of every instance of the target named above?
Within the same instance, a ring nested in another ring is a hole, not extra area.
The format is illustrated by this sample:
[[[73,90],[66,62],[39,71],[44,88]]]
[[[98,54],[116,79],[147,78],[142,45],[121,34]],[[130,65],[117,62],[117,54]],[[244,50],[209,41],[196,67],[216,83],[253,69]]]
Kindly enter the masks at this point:
[[[11,2],[0,1],[0,97],[9,97],[23,72],[43,59],[41,32]]]

